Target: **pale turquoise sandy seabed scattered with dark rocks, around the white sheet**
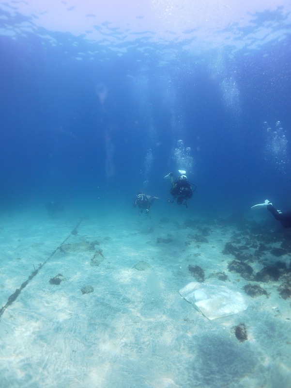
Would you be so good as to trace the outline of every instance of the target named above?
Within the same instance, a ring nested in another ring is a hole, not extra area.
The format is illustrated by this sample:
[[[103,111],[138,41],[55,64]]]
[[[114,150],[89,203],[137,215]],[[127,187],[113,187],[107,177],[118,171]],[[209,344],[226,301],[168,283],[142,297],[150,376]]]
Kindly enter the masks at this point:
[[[290,387],[291,231],[272,227],[185,211],[2,214],[0,387]],[[247,309],[210,321],[179,294],[213,280]]]

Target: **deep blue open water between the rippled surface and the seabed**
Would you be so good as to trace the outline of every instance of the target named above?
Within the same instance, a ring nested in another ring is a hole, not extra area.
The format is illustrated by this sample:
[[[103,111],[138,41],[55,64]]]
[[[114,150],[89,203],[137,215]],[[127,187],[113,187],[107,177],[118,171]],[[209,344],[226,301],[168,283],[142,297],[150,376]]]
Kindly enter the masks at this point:
[[[290,34],[258,49],[226,46],[197,55],[169,42],[174,55],[161,63],[162,43],[144,55],[137,39],[117,55],[69,33],[49,33],[56,46],[31,32],[0,37],[2,208],[58,197],[94,202],[97,195],[130,203],[143,188],[149,149],[144,190],[164,201],[162,178],[181,168],[173,159],[180,139],[191,147],[188,179],[198,187],[193,202],[201,213],[245,211],[265,197],[288,208]],[[79,51],[82,60],[74,58]],[[271,145],[266,155],[263,123],[275,131],[277,121],[287,146],[276,153]]]

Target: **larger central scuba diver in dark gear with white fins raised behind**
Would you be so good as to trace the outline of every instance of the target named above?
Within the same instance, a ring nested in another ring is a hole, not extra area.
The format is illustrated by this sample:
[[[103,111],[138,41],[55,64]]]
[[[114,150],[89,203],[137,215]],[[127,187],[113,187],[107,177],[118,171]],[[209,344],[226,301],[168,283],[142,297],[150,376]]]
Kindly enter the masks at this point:
[[[164,177],[164,179],[171,179],[171,188],[170,188],[170,193],[174,197],[174,199],[177,198],[177,204],[178,205],[185,205],[186,208],[187,206],[187,199],[191,198],[193,195],[193,190],[192,186],[194,186],[194,191],[196,190],[196,185],[193,183],[188,182],[187,177],[186,177],[186,171],[184,170],[179,170],[179,173],[181,174],[178,178],[174,180],[173,178],[173,173],[169,173]],[[168,198],[168,202],[173,203],[174,199],[171,200]]]

